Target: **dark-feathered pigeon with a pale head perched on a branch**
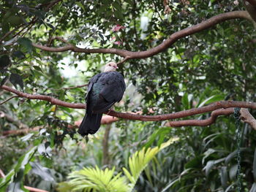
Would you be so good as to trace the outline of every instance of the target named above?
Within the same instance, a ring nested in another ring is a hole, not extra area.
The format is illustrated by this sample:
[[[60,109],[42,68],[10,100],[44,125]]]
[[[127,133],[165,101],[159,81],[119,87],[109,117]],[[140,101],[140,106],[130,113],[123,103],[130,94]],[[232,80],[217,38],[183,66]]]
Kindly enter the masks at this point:
[[[91,77],[86,94],[86,115],[78,128],[81,136],[95,134],[99,130],[102,113],[121,101],[126,85],[124,77],[116,69],[117,64],[110,62],[105,65],[104,72]]]

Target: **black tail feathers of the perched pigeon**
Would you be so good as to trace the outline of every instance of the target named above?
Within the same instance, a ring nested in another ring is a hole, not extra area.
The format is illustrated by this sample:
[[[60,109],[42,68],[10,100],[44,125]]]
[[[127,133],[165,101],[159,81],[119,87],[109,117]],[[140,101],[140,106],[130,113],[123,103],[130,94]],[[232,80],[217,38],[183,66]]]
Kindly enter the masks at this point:
[[[95,134],[99,130],[100,121],[102,120],[102,113],[88,114],[83,118],[79,126],[78,133],[82,136],[88,134]]]

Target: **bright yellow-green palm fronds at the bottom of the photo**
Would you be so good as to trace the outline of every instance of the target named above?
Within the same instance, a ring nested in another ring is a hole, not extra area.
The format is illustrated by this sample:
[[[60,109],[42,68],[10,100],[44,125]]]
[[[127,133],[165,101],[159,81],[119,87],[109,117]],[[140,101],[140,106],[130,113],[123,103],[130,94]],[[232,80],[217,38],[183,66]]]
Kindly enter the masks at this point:
[[[106,168],[105,170],[95,168],[83,168],[80,171],[75,171],[69,174],[68,183],[59,183],[59,191],[117,191],[126,192],[132,191],[137,183],[137,180],[148,165],[160,150],[168,147],[177,139],[169,139],[169,141],[162,143],[160,147],[154,147],[146,150],[136,151],[132,157],[129,158],[129,171],[123,168],[126,177],[121,176],[121,172],[114,176],[115,167],[113,169]],[[128,181],[130,183],[128,183]],[[64,186],[62,186],[64,185]],[[72,186],[72,188],[70,187]]]

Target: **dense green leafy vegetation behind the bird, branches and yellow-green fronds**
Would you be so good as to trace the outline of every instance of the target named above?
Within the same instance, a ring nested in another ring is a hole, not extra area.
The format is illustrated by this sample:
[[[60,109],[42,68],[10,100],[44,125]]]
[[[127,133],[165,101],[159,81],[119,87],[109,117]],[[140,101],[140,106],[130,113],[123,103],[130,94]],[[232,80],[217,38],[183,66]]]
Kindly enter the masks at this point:
[[[70,87],[87,84],[105,63],[121,57],[56,53],[33,43],[143,51],[214,15],[245,9],[243,1],[217,0],[0,1],[1,85],[84,103],[86,88]],[[162,53],[120,64],[127,91],[115,110],[157,115],[220,100],[255,102],[255,39],[251,21],[227,20],[178,39]],[[2,103],[11,96],[0,89],[0,169],[6,174],[0,191],[28,191],[24,185],[56,191],[71,172],[89,166],[115,166],[116,173],[122,172],[135,151],[160,146],[170,138],[178,139],[155,154],[134,191],[236,191],[237,141],[231,115],[219,117],[211,126],[179,128],[168,127],[166,121],[120,119],[102,125],[86,142],[74,128],[84,110],[22,97]],[[16,131],[27,128],[36,131],[22,136]],[[255,131],[243,124],[243,191],[255,190],[255,140]],[[59,191],[70,187],[61,186]]]

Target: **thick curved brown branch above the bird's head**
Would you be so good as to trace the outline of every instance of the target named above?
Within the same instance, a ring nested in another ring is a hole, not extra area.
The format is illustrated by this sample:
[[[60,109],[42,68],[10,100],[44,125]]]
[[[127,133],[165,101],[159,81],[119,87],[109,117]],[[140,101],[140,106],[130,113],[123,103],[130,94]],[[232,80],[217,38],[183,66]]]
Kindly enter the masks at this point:
[[[209,18],[208,20],[205,20],[195,26],[191,26],[188,28],[184,28],[181,31],[177,31],[174,34],[171,34],[170,37],[168,37],[160,45],[157,45],[157,47],[153,47],[150,50],[146,50],[146,51],[132,52],[128,50],[119,50],[115,48],[82,49],[82,48],[76,47],[75,45],[70,45],[70,44],[64,47],[47,47],[47,46],[37,45],[33,43],[33,46],[49,52],[64,52],[67,50],[72,50],[73,52],[78,52],[78,53],[111,53],[111,54],[120,55],[121,57],[125,58],[124,61],[127,61],[128,59],[131,59],[131,58],[148,58],[148,57],[151,57],[152,55],[157,55],[158,53],[161,53],[167,50],[167,48],[173,45],[173,43],[175,43],[178,39],[203,31],[207,28],[217,25],[218,23],[222,23],[225,20],[232,20],[236,18],[252,20],[252,18],[249,16],[248,12],[246,11],[225,12],[225,13],[216,15],[212,18]],[[123,63],[124,61],[121,61],[121,63]]]

